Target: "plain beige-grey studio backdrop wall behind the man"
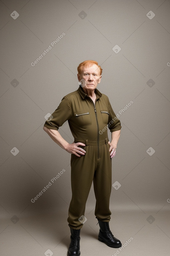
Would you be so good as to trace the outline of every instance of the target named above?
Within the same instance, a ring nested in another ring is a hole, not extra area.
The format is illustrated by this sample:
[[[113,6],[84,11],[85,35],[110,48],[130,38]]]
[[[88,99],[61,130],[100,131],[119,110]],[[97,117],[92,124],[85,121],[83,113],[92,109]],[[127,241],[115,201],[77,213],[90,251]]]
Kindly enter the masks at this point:
[[[170,1],[3,0],[0,10],[0,235],[42,212],[67,226],[71,156],[42,128],[88,59],[103,68],[98,89],[122,124],[111,210],[140,212],[136,232],[159,219],[170,208]],[[59,131],[73,142],[67,122]],[[87,219],[94,206],[91,189]]]

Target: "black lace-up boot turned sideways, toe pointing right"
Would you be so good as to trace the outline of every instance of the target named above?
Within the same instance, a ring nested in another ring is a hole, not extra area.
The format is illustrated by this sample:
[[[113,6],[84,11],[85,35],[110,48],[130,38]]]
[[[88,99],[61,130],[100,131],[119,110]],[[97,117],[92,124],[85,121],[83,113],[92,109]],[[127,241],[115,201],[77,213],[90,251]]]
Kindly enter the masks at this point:
[[[104,222],[98,219],[100,231],[98,240],[105,243],[112,248],[119,248],[122,246],[121,241],[112,234],[108,222]]]

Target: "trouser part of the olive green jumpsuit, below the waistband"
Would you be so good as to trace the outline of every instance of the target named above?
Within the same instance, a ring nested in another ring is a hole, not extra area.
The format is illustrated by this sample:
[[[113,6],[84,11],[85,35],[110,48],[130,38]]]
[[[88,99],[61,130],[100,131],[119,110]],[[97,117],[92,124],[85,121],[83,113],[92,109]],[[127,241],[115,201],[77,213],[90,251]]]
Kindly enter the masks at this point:
[[[112,188],[112,159],[110,145],[82,147],[86,153],[77,157],[71,155],[71,188],[72,199],[68,210],[68,226],[73,229],[82,228],[79,218],[84,215],[89,191],[94,183],[96,197],[95,216],[103,221],[110,221],[109,209]]]

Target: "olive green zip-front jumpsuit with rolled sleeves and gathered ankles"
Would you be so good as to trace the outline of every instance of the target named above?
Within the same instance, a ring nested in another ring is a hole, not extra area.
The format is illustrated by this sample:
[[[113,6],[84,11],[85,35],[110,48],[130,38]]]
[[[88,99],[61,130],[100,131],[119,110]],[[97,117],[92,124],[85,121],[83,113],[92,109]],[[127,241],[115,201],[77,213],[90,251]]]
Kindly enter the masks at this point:
[[[102,221],[110,221],[109,209],[112,188],[112,159],[108,144],[107,126],[110,131],[121,129],[108,97],[95,89],[95,104],[78,90],[66,95],[58,108],[52,113],[53,118],[44,126],[58,130],[68,120],[74,142],[82,142],[86,153],[80,157],[71,154],[72,199],[68,210],[68,226],[80,229],[83,224],[79,218],[84,215],[89,191],[94,184],[96,197],[95,216]]]

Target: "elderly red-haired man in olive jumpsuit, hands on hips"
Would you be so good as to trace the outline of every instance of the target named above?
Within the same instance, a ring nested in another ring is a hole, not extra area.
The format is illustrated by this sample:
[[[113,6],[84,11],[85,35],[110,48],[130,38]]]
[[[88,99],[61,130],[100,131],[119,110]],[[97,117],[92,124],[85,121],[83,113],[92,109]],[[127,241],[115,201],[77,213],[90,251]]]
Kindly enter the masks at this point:
[[[78,66],[79,89],[67,94],[47,120],[43,129],[61,148],[71,153],[72,199],[68,210],[71,243],[68,256],[80,255],[80,229],[89,191],[94,184],[95,216],[99,223],[98,240],[112,248],[122,246],[113,236],[109,221],[112,188],[112,158],[120,137],[121,123],[116,118],[108,97],[96,87],[102,78],[102,68],[96,61],[87,60]],[[74,142],[69,144],[58,128],[68,120]],[[109,142],[107,127],[112,133]]]

